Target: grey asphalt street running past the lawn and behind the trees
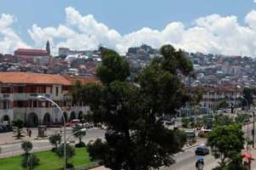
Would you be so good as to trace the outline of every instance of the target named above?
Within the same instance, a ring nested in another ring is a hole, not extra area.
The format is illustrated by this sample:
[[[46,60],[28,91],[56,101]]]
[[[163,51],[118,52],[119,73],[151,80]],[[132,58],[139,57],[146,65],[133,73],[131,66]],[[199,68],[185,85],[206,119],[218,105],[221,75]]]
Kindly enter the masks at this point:
[[[247,134],[250,138],[252,138],[252,128],[253,125],[249,124],[248,126],[243,126],[242,130],[244,132],[244,137],[247,137]],[[56,130],[60,129],[51,129],[51,133],[55,132]],[[249,133],[247,133],[249,132]],[[71,129],[67,130],[67,133],[71,133]],[[90,129],[86,131],[86,135],[84,137],[84,142],[88,143],[90,140],[94,140],[97,138],[102,138],[104,136],[105,130],[102,129]],[[68,137],[69,135],[67,135]],[[69,141],[74,142],[75,139],[69,138]],[[206,143],[207,139],[200,139],[201,143]],[[49,144],[48,139],[41,139],[41,140],[32,140],[33,149],[32,151],[39,151],[39,150],[49,150],[53,146]],[[179,152],[174,156],[174,159],[176,160],[176,163],[173,164],[171,167],[162,167],[160,169],[162,170],[194,170],[195,169],[195,149],[197,146],[189,148],[188,150],[184,150],[183,152]],[[20,143],[13,143],[13,144],[2,144],[2,153],[0,154],[1,157],[6,156],[15,156],[20,155],[23,153],[23,151],[20,149]],[[212,169],[212,167],[215,167],[218,163],[218,160],[216,160],[211,154],[208,156],[205,156],[205,167],[204,169]]]

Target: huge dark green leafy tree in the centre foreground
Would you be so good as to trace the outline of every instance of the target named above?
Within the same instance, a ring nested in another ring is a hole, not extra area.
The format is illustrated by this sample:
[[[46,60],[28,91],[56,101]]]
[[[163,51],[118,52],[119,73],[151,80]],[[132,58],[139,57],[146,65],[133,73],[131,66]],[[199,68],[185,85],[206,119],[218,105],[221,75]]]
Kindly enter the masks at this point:
[[[184,102],[183,83],[193,65],[171,45],[160,48],[155,57],[135,79],[127,82],[130,70],[124,57],[101,48],[102,65],[97,69],[101,84],[88,84],[73,93],[73,99],[90,105],[95,122],[108,126],[106,142],[101,145],[103,163],[113,170],[149,169],[170,165],[172,154],[186,142],[185,133],[163,126],[163,114],[175,114]],[[93,145],[90,146],[91,150]],[[98,147],[98,144],[96,144]]]

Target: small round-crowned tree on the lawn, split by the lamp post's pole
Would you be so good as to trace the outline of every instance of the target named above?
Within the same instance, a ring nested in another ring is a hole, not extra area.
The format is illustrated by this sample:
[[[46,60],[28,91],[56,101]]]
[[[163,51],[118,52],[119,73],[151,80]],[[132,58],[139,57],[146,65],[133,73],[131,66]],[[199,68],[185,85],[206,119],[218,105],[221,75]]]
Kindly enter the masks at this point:
[[[64,144],[61,144],[58,147],[57,155],[61,158],[64,156]],[[67,159],[67,167],[73,167],[72,159],[75,156],[75,149],[70,144],[66,144],[66,159]]]

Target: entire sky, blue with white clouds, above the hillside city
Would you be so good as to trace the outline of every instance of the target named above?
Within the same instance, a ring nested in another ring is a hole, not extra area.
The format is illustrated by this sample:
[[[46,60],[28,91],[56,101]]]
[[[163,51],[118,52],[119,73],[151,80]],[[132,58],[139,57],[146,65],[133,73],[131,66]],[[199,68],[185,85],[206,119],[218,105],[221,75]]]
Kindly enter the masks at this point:
[[[237,37],[241,30],[248,34],[246,37],[252,36],[251,31],[254,33],[254,8],[253,0],[2,0],[0,28],[8,32],[0,31],[0,53],[11,53],[19,47],[43,48],[48,38],[55,53],[56,48],[62,46],[80,49],[96,48],[99,44],[125,53],[129,46],[142,42],[155,48],[170,42],[189,51],[237,54],[241,50],[235,48],[242,44],[226,42],[226,50],[222,48],[224,44],[220,44],[225,36],[231,36],[236,37],[233,41],[246,43],[246,47],[241,47],[245,54],[255,55],[254,39],[246,41],[244,37]],[[248,14],[251,14],[249,20]],[[79,20],[73,22],[72,17]],[[2,27],[1,19],[5,23]],[[11,21],[6,24],[7,20]],[[225,28],[237,25],[237,32],[228,35],[219,26],[222,25],[219,20]],[[216,29],[209,28],[209,24]],[[169,30],[165,31],[166,27]],[[198,35],[204,39],[196,43]],[[73,44],[75,42],[81,44]]]

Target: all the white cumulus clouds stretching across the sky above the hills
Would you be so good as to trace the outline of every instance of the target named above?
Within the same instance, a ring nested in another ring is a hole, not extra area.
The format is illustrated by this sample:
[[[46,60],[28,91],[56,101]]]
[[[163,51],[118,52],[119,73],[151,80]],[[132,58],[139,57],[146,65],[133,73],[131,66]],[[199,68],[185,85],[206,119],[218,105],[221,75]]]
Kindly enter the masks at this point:
[[[143,27],[125,35],[98,22],[91,14],[81,15],[71,7],[66,8],[65,12],[66,22],[59,26],[40,27],[34,24],[28,30],[34,42],[33,48],[42,48],[49,40],[55,53],[59,47],[94,49],[102,44],[124,54],[127,48],[140,46],[142,43],[154,48],[171,43],[174,47],[189,52],[236,55],[240,54],[242,49],[244,55],[256,56],[255,10],[245,16],[243,26],[238,23],[235,15],[212,14],[192,21],[193,25],[189,27],[177,21],[169,23],[162,30]],[[11,28],[14,21],[13,16],[2,14],[0,28],[5,29],[1,29],[0,34],[4,34],[9,42],[15,39],[13,43],[16,46],[26,45]],[[0,39],[0,49],[3,49],[1,42],[3,41]],[[16,47],[15,45],[10,44],[10,47]]]

